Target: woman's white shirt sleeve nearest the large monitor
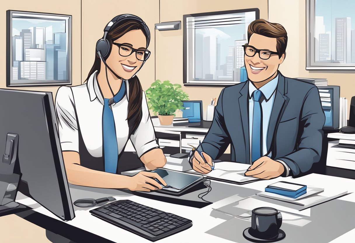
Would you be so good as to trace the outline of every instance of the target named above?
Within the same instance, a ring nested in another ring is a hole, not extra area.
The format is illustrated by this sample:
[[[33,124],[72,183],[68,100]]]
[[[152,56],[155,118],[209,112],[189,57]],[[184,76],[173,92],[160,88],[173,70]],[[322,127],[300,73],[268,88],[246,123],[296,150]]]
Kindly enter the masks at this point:
[[[79,152],[79,133],[75,114],[75,103],[70,87],[62,86],[55,98],[58,133],[62,151]]]

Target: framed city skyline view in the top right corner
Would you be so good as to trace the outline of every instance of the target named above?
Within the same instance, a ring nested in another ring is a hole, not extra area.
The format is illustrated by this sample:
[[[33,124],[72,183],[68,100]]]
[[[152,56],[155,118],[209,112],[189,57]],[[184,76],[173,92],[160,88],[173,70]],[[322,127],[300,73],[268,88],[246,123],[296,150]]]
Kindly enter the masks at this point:
[[[355,1],[306,1],[306,70],[355,70]]]

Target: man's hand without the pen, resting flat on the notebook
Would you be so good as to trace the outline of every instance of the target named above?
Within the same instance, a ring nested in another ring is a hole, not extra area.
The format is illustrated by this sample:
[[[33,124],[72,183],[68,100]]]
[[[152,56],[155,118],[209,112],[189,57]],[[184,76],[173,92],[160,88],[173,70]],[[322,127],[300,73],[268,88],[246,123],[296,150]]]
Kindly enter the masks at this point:
[[[249,167],[245,175],[268,180],[282,175],[284,170],[285,168],[282,163],[263,156]]]

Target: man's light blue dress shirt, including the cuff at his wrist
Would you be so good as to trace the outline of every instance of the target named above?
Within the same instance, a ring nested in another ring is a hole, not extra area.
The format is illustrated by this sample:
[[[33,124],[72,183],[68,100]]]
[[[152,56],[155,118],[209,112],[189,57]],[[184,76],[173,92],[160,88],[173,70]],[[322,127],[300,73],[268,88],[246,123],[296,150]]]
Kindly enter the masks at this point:
[[[269,127],[269,121],[271,117],[271,111],[272,107],[274,105],[274,100],[275,100],[275,93],[276,93],[276,88],[277,88],[277,83],[279,80],[279,75],[277,75],[273,80],[269,81],[262,87],[260,87],[260,91],[263,93],[263,96],[260,98],[261,99],[261,109],[262,109],[262,155],[266,156],[267,155],[267,131]],[[250,148],[251,148],[251,137],[252,137],[252,126],[250,124],[253,124],[253,109],[254,109],[254,100],[252,98],[252,94],[257,88],[253,85],[251,81],[249,82],[249,141],[250,141]],[[267,155],[268,157],[271,157],[271,153]],[[289,175],[289,167],[286,165],[285,162],[278,160],[280,163],[282,163],[285,168],[286,168],[286,176]],[[251,162],[250,162],[251,163]]]

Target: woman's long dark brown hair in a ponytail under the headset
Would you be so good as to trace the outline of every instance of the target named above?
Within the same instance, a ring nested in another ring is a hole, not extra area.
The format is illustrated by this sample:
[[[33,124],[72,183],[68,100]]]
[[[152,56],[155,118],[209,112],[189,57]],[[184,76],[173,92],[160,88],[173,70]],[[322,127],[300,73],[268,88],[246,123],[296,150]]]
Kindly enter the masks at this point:
[[[147,47],[149,44],[149,36],[150,33],[146,33],[146,28],[142,26],[142,23],[136,21],[127,21],[123,22],[111,29],[110,32],[107,33],[106,39],[109,44],[112,46],[112,43],[126,34],[127,32],[133,29],[140,29],[147,38]],[[148,28],[147,28],[148,29]],[[108,54],[109,55],[109,54]],[[89,74],[85,81],[89,79],[89,77],[97,70],[100,72],[101,68],[101,59],[95,50],[95,61],[94,64],[89,71]],[[128,80],[129,82],[129,102],[128,102],[128,126],[129,126],[129,135],[133,134],[135,130],[138,128],[138,125],[142,119],[142,86],[137,76],[132,77]]]

